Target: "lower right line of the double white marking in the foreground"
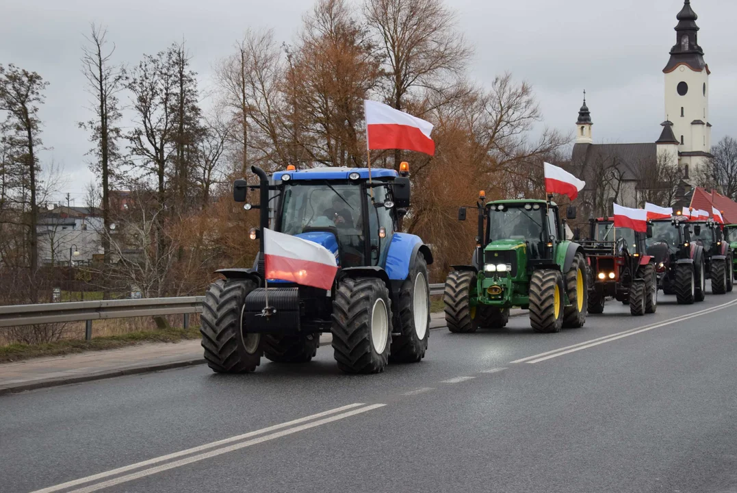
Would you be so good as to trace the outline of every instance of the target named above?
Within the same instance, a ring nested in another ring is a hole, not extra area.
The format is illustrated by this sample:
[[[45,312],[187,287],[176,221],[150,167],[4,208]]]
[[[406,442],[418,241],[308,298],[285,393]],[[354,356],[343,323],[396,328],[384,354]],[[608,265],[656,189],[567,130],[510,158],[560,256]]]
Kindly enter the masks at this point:
[[[339,419],[348,418],[349,416],[354,416],[356,414],[366,413],[367,411],[374,410],[377,408],[383,408],[384,406],[385,404],[368,405],[365,408],[358,408],[358,409],[350,410],[346,413],[337,414],[335,416],[329,416],[328,418],[320,419],[315,422],[302,424],[301,426],[296,426],[293,428],[289,428],[287,430],[282,430],[276,433],[271,433],[270,435],[261,436],[259,438],[254,438],[253,440],[242,441],[239,444],[229,445],[228,447],[223,447],[217,450],[211,450],[209,452],[205,452],[200,455],[193,455],[192,457],[184,458],[179,461],[170,462],[168,464],[161,464],[161,466],[151,467],[150,469],[144,469],[139,472],[133,472],[129,475],[120,476],[119,478],[113,478],[111,480],[103,481],[102,483],[85,486],[84,488],[75,489],[69,493],[97,492],[99,489],[108,488],[110,486],[116,486],[121,483],[128,483],[128,481],[136,480],[139,478],[144,478],[146,476],[154,475],[158,472],[167,471],[169,469],[175,469],[176,467],[186,466],[187,464],[192,464],[193,462],[203,461],[205,459],[217,457],[217,455],[222,455],[228,452],[234,452],[235,450],[240,450],[245,447],[251,447],[252,445],[261,444],[265,441],[274,440],[275,438],[281,438],[282,436],[291,435],[292,433],[297,433],[299,431],[309,430],[310,428],[321,426],[322,424],[327,424],[330,422],[338,421]]]

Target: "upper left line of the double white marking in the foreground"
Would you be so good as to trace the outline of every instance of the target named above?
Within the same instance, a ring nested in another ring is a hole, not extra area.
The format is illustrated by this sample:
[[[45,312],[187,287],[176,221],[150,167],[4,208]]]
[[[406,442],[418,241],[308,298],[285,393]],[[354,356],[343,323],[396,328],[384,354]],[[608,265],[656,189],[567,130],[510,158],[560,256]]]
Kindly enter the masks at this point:
[[[326,411],[323,411],[322,413],[312,414],[311,416],[304,416],[304,418],[293,419],[292,421],[289,421],[289,422],[274,424],[273,426],[265,427],[265,428],[262,428],[261,430],[255,430],[255,431],[250,431],[248,433],[243,433],[242,435],[231,436],[230,438],[224,438],[223,440],[213,441],[209,444],[203,444],[203,445],[199,445],[198,447],[192,447],[191,449],[180,450],[179,452],[174,452],[174,453],[167,454],[167,455],[161,455],[161,457],[148,459],[147,461],[136,462],[136,464],[130,464],[129,466],[118,467],[117,469],[111,469],[110,471],[100,472],[99,474],[87,476],[86,478],[75,479],[75,480],[68,481],[66,483],[57,484],[56,486],[49,486],[48,488],[38,489],[32,493],[58,492],[62,489],[71,488],[71,486],[77,486],[83,483],[89,483],[91,481],[109,478],[116,474],[120,474],[121,472],[128,472],[133,469],[138,469],[139,467],[150,466],[152,464],[158,464],[160,462],[169,461],[172,458],[177,458],[183,455],[189,455],[195,452],[201,452],[203,450],[212,449],[213,447],[217,447],[219,445],[229,444],[233,441],[239,441],[244,438],[251,438],[252,436],[256,436],[256,435],[262,435],[263,433],[269,433],[274,430],[280,430],[285,427],[293,426],[294,424],[304,423],[306,421],[310,421],[310,419],[317,419],[323,416],[328,416],[330,414],[340,413],[342,411],[357,408],[363,405],[364,405],[363,403],[358,402],[355,404],[349,404],[346,406],[342,406],[340,408],[326,410]]]

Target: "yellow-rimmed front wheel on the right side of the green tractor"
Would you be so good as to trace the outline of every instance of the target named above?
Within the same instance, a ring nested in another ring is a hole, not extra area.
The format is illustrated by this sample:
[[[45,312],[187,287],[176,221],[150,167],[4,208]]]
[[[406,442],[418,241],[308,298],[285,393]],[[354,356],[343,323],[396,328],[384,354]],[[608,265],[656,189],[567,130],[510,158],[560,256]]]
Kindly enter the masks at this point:
[[[535,270],[530,279],[530,325],[535,332],[560,332],[563,326],[563,276]]]

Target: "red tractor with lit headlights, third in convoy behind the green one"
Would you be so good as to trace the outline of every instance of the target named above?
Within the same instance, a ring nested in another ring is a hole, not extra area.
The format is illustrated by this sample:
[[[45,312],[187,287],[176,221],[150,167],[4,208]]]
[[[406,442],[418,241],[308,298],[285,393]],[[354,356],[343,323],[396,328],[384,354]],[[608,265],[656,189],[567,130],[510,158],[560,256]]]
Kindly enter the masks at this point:
[[[618,228],[608,217],[590,219],[589,239],[581,241],[590,262],[589,313],[603,313],[607,296],[629,304],[632,315],[657,310],[655,260],[646,254],[646,234]]]

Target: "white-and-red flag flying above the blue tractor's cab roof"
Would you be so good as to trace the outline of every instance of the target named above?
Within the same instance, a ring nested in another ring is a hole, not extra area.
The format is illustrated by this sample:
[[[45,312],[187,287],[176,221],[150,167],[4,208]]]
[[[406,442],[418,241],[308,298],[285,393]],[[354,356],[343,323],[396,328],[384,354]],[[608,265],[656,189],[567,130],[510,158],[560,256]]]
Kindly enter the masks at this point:
[[[376,101],[363,101],[368,149],[402,149],[435,155],[433,124]]]

